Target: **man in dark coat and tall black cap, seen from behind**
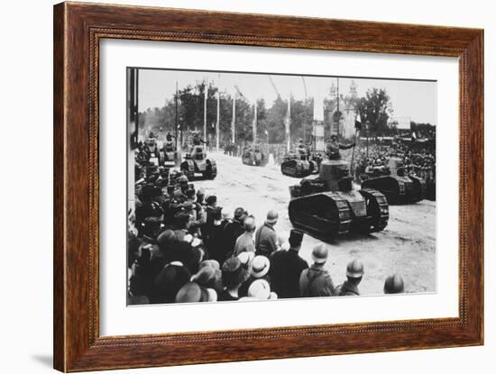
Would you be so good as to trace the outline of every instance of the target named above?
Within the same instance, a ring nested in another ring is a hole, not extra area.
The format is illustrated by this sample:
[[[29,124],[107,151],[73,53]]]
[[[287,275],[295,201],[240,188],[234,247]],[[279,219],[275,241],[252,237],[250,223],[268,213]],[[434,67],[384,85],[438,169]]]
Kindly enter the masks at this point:
[[[299,297],[299,277],[308,263],[299,256],[303,233],[291,230],[289,250],[276,251],[271,257],[271,288],[280,298]]]

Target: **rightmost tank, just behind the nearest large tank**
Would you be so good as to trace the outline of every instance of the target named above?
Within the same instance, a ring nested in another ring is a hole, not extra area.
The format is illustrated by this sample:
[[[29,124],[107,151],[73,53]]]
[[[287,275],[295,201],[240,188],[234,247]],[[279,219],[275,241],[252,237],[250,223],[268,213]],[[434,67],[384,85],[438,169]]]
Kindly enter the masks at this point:
[[[408,175],[403,161],[391,157],[386,175],[372,177],[362,182],[362,188],[380,191],[390,205],[412,204],[426,198],[426,182],[422,178]]]

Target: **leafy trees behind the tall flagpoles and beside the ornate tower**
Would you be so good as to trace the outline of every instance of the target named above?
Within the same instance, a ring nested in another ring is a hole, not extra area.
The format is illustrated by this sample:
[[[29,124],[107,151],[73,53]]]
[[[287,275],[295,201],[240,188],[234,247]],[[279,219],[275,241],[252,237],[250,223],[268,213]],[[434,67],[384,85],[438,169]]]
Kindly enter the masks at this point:
[[[198,131],[203,134],[204,100],[207,92],[207,139],[216,138],[217,91],[212,82],[197,81],[178,92],[178,130]],[[307,101],[290,97],[290,137],[291,141],[303,138],[310,141],[313,121],[313,98]],[[388,119],[392,114],[390,96],[385,89],[371,88],[364,97],[353,97],[354,105],[359,109],[363,123],[370,123],[371,133],[390,132]],[[243,96],[235,96],[235,140],[236,142],[253,141],[253,116],[255,103]],[[285,120],[288,115],[288,98],[278,96],[270,106],[264,99],[258,99],[256,136],[258,141],[285,143]],[[220,141],[225,143],[232,139],[233,96],[221,93],[219,105]],[[330,119],[329,119],[330,120]],[[149,108],[140,114],[140,127],[148,132],[165,134],[175,132],[176,102],[175,97],[164,101],[159,108]]]

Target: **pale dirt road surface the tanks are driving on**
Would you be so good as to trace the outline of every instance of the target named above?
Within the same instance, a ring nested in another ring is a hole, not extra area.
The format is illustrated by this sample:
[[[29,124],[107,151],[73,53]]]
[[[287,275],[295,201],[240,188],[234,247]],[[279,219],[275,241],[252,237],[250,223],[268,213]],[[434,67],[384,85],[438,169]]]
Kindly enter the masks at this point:
[[[290,178],[280,167],[269,163],[265,168],[243,165],[241,158],[222,152],[209,152],[216,160],[214,180],[195,180],[208,195],[217,196],[217,204],[233,212],[243,206],[262,225],[267,211],[276,209],[280,220],[275,226],[286,240],[292,224],[288,217],[289,186],[299,178]],[[300,255],[311,264],[312,248],[320,241],[305,235]],[[365,274],[360,284],[362,295],[382,293],[384,279],[399,273],[405,280],[406,292],[436,291],[436,202],[423,200],[414,205],[390,206],[390,221],[381,233],[350,234],[328,243],[329,270],[335,284],[345,279],[346,264],[353,259],[363,261]]]

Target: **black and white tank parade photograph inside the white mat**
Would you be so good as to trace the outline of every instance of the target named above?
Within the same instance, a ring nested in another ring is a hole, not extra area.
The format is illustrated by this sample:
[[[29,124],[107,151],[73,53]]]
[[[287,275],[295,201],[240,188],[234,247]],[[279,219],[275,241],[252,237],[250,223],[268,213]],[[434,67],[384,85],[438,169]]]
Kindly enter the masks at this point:
[[[128,306],[436,293],[436,80],[126,83]]]

